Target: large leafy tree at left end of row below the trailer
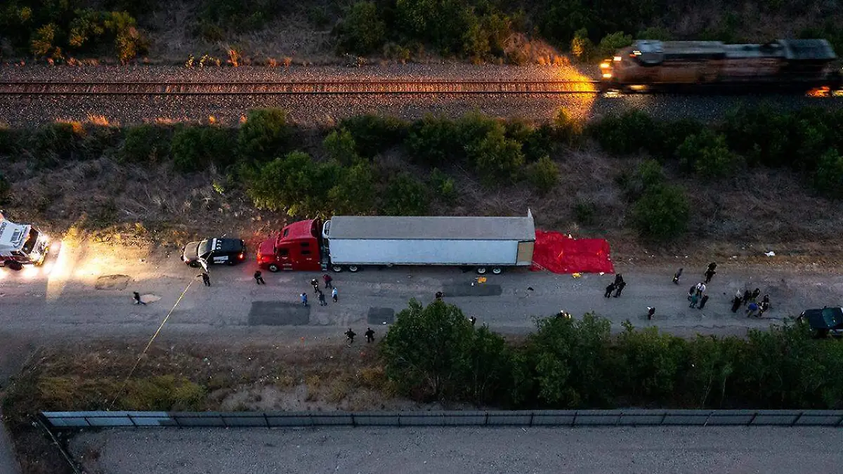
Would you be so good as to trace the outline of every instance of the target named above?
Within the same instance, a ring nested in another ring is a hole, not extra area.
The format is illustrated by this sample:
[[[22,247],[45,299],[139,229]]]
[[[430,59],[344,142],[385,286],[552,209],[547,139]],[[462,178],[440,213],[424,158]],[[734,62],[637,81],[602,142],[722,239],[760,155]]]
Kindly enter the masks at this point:
[[[444,400],[462,393],[472,369],[473,333],[469,320],[453,304],[438,300],[422,306],[411,299],[379,344],[386,374],[402,391],[417,391],[422,399]],[[492,337],[484,336],[478,352],[486,353],[490,346],[499,347]],[[476,371],[488,374],[480,367]],[[487,386],[483,380],[476,385],[481,391]]]

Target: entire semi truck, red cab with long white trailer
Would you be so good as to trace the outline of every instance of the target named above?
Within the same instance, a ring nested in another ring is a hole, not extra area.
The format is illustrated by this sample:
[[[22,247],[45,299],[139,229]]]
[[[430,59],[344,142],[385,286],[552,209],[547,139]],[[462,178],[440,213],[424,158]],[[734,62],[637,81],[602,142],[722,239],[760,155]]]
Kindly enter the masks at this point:
[[[535,225],[526,217],[334,216],[298,221],[258,247],[270,272],[357,272],[362,267],[443,265],[498,274],[533,262]]]

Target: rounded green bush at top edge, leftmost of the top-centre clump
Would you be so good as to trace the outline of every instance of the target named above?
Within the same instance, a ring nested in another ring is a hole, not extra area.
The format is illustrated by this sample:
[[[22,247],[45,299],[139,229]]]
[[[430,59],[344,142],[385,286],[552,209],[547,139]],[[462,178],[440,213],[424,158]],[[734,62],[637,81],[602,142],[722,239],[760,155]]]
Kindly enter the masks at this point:
[[[338,35],[341,51],[365,55],[384,46],[386,24],[374,2],[357,2],[342,19]]]

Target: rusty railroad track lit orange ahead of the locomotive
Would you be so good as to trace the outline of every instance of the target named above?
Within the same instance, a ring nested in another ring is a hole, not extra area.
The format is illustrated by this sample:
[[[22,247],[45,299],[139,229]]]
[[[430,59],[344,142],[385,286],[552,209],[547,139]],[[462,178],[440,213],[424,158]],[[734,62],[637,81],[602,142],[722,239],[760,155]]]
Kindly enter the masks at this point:
[[[599,81],[0,83],[2,95],[596,94]]]

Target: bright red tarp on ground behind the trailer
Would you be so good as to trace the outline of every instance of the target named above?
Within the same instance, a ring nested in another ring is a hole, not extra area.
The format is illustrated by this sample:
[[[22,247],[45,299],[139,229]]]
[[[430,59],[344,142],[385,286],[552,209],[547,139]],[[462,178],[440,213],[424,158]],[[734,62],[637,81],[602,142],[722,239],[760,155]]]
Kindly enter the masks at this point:
[[[614,273],[609,242],[603,239],[571,239],[559,232],[535,231],[533,267],[554,273]]]

